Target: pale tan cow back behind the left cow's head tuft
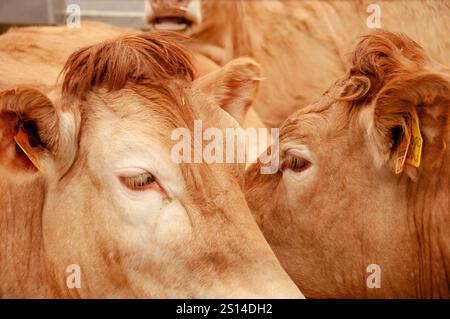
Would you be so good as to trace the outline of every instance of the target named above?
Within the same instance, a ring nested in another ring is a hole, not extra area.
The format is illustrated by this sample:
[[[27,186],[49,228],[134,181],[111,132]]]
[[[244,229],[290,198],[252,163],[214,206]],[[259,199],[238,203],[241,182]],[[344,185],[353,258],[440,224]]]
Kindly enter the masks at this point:
[[[11,28],[0,36],[0,88],[55,85],[74,51],[98,42],[136,34],[137,30],[83,21],[81,28],[33,26]],[[18,70],[26,69],[26,72]]]

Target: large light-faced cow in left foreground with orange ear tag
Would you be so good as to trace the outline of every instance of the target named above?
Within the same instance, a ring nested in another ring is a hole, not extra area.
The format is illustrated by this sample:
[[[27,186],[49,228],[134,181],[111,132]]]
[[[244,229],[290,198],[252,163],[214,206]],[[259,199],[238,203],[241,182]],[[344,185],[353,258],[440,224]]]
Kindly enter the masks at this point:
[[[219,105],[247,105],[258,70],[193,80],[182,38],[152,32],[76,51],[49,92],[0,91],[0,296],[301,298],[244,165],[171,157],[196,120],[238,127]]]

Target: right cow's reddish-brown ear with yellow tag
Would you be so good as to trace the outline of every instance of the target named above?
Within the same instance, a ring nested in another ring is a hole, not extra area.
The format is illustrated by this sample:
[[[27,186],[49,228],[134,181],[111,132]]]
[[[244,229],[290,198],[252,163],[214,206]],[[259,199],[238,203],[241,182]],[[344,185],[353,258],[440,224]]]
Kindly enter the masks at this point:
[[[401,75],[377,94],[374,136],[378,158],[397,174],[432,169],[446,151],[450,131],[450,77],[423,72]]]

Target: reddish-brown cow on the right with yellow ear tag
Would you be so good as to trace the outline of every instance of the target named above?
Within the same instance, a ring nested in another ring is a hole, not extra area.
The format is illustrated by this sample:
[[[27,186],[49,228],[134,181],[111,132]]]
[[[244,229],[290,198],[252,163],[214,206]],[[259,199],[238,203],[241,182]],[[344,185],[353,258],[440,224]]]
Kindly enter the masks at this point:
[[[283,123],[279,170],[252,165],[246,198],[306,297],[449,298],[449,143],[450,68],[377,31]]]

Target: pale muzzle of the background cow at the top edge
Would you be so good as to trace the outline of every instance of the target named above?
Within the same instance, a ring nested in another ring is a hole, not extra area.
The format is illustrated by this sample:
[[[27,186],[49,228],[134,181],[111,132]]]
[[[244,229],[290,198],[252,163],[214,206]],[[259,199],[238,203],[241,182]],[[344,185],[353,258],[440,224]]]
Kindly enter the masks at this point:
[[[201,0],[147,0],[146,22],[155,30],[185,32],[202,22]]]

